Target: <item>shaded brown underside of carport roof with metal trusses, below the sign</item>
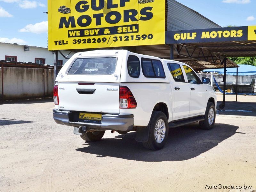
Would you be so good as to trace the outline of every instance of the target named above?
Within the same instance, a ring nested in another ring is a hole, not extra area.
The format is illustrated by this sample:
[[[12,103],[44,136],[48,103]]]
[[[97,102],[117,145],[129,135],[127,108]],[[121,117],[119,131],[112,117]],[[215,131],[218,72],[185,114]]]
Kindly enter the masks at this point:
[[[223,68],[225,57],[256,56],[256,41],[225,41],[209,43],[174,44],[174,59],[180,60],[195,70]],[[239,67],[228,59],[227,68]]]

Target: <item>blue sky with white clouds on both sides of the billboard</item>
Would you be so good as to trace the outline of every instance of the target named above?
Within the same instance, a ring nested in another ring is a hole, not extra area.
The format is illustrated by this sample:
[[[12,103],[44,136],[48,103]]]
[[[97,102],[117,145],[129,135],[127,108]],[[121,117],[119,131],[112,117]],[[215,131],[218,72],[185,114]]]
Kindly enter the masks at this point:
[[[177,0],[221,27],[256,25],[256,0]],[[0,0],[0,42],[47,47],[47,0]]]

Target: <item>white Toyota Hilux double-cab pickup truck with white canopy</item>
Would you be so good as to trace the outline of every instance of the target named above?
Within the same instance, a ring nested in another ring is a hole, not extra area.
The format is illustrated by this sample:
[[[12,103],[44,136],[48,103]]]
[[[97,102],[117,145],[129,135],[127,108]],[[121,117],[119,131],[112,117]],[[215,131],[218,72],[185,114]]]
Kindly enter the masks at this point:
[[[136,141],[158,150],[169,128],[214,126],[217,100],[209,81],[174,60],[126,50],[80,52],[56,78],[53,117],[86,141],[99,141],[107,130],[136,131]]]

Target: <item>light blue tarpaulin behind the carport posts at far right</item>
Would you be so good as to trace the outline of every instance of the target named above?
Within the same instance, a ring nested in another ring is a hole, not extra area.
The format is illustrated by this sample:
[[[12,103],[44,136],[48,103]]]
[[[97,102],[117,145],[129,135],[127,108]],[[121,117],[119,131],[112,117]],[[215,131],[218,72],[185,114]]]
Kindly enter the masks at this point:
[[[252,65],[238,65],[238,75],[256,75],[256,66]],[[216,72],[219,74],[224,74],[224,68],[221,69],[205,69],[203,72]],[[227,68],[227,75],[236,75],[236,68]]]

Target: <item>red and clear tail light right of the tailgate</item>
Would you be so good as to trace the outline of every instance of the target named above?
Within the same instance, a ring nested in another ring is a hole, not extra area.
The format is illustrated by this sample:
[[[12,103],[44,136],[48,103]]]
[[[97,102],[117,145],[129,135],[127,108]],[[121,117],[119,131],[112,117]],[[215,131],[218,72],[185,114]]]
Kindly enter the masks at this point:
[[[119,87],[120,108],[136,108],[137,102],[130,89],[126,86]]]

